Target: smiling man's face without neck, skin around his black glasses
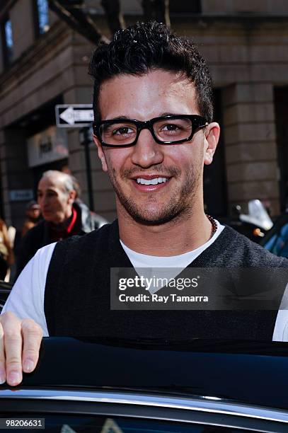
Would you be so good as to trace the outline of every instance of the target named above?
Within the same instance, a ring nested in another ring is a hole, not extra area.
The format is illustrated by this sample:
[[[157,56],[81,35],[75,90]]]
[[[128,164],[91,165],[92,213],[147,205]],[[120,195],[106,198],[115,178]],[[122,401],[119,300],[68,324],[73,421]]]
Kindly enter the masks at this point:
[[[183,76],[160,69],[144,76],[123,74],[105,81],[100,87],[99,108],[101,120],[200,115],[194,85]],[[203,130],[182,144],[157,144],[148,129],[142,130],[135,146],[102,148],[97,139],[96,144],[103,170],[108,171],[117,194],[119,215],[129,215],[142,224],[163,224],[187,216],[195,202],[202,200],[203,164],[212,161]],[[142,185],[137,178],[166,178],[166,182]]]

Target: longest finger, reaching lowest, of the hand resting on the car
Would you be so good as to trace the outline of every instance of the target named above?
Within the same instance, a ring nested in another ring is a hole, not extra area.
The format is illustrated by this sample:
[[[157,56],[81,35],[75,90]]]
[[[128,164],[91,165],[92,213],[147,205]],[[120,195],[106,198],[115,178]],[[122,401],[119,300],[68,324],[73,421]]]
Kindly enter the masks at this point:
[[[16,386],[22,381],[22,335],[21,321],[13,313],[1,316],[4,330],[4,347],[6,357],[6,382]]]

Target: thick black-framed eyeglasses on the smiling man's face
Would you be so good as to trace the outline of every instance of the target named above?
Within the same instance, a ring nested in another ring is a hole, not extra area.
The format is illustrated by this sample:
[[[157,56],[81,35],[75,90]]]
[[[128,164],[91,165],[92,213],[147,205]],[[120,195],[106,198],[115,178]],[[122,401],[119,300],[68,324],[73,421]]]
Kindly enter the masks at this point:
[[[103,146],[127,147],[137,143],[142,129],[149,129],[156,143],[180,144],[189,142],[198,129],[208,125],[198,115],[168,115],[140,120],[115,119],[93,123],[93,132]]]

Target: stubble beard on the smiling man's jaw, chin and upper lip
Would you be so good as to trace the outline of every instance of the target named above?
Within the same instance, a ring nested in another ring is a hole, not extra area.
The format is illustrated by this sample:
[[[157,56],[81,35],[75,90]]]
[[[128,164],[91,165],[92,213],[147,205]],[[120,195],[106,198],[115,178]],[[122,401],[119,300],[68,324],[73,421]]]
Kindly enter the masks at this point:
[[[158,171],[159,173],[169,174],[173,179],[177,180],[180,178],[181,171],[175,167],[154,168],[154,172]],[[139,173],[139,170],[137,171]],[[143,172],[144,174],[145,172]],[[170,221],[178,221],[179,219],[187,218],[192,214],[193,204],[195,203],[195,197],[197,192],[199,191],[199,187],[202,181],[202,173],[199,169],[194,167],[194,171],[191,169],[188,173],[185,183],[182,185],[180,190],[175,191],[175,193],[170,197],[168,202],[163,204],[161,209],[157,211],[151,211],[151,203],[156,204],[155,195],[157,192],[146,193],[147,200],[146,205],[145,202],[142,205],[138,205],[134,202],[133,197],[127,197],[120,187],[120,184],[117,182],[116,173],[109,173],[111,183],[113,184],[114,190],[118,197],[118,200],[122,204],[122,207],[126,210],[134,221],[137,221],[139,224],[143,225],[160,225],[166,224]],[[132,170],[124,170],[120,172],[120,178],[127,182],[127,179],[133,175]],[[161,174],[159,175],[159,177]],[[132,180],[134,182],[134,180]],[[131,180],[129,180],[131,182]],[[169,187],[169,185],[164,186]]]

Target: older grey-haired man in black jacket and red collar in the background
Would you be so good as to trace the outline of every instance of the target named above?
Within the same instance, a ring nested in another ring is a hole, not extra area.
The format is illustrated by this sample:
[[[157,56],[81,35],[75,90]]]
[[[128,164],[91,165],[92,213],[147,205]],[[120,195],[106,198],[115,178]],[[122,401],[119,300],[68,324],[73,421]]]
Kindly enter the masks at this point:
[[[21,242],[17,260],[17,275],[30,258],[42,248],[69,236],[83,235],[107,223],[83,204],[76,202],[76,179],[61,171],[43,173],[38,184],[38,207],[43,220],[30,229]]]

